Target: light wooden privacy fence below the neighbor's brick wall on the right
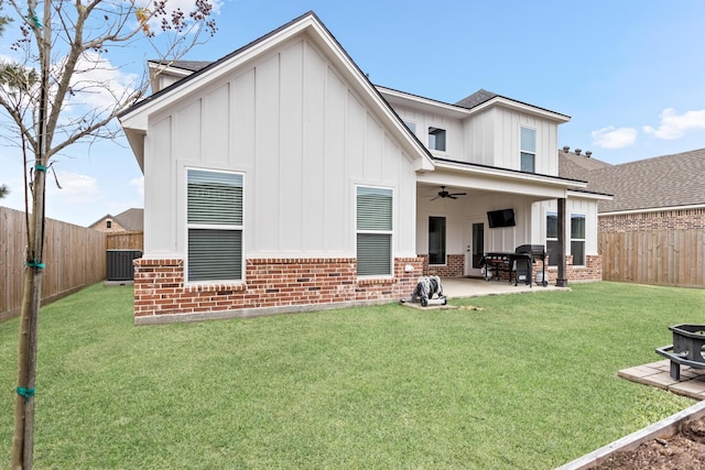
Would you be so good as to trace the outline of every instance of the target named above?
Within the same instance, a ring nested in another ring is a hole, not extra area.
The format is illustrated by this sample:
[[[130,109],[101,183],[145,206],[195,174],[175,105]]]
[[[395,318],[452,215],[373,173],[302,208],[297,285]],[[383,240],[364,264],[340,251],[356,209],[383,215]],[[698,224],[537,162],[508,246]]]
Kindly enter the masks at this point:
[[[705,230],[600,232],[603,280],[705,287]]]

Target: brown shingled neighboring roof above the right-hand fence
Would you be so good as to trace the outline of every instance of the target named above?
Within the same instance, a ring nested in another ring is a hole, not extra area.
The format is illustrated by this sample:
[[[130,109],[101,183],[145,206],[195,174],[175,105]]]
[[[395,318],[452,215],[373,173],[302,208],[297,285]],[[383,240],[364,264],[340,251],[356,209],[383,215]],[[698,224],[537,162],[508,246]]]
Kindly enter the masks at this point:
[[[575,160],[575,159],[573,159]],[[573,162],[575,163],[575,162]],[[574,167],[573,167],[574,170]],[[568,173],[561,173],[568,176]],[[588,189],[615,195],[599,212],[705,205],[705,149],[609,165],[587,172]]]

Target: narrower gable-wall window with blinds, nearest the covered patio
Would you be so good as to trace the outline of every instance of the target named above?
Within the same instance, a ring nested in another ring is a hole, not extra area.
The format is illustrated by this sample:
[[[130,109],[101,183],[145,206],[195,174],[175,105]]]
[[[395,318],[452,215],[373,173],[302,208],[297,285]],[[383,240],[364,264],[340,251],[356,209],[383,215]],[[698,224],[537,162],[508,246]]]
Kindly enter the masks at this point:
[[[357,275],[392,274],[392,190],[357,188]]]

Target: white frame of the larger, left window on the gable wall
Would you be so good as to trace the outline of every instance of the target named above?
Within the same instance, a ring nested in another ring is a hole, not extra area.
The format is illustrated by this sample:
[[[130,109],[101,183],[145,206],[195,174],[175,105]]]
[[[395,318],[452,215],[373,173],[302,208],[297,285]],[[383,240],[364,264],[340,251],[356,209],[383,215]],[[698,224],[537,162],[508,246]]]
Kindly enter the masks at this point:
[[[197,171],[197,172],[207,172],[207,173],[225,173],[229,175],[239,175],[242,179],[242,214],[241,214],[241,223],[240,225],[215,225],[215,223],[189,223],[188,222],[188,172]],[[241,172],[231,172],[224,170],[214,170],[208,167],[196,167],[196,166],[187,166],[184,168],[184,220],[186,226],[186,234],[185,234],[185,259],[184,259],[184,283],[192,285],[200,285],[200,284],[240,284],[245,283],[245,273],[246,273],[246,258],[245,258],[245,185],[246,177],[245,173]],[[240,277],[239,278],[223,278],[223,280],[199,280],[192,281],[188,276],[188,239],[189,239],[189,230],[192,229],[210,229],[210,230],[231,230],[231,231],[240,231]]]

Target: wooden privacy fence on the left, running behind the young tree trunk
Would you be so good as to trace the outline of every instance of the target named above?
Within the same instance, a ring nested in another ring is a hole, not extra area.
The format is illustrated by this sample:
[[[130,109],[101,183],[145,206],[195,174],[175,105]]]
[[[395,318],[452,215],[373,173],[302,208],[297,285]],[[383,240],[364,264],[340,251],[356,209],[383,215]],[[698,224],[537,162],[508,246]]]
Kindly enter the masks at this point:
[[[106,234],[46,219],[42,302],[68,295],[106,277]],[[24,212],[0,207],[0,320],[22,306],[26,248]]]

